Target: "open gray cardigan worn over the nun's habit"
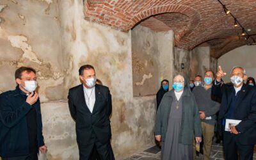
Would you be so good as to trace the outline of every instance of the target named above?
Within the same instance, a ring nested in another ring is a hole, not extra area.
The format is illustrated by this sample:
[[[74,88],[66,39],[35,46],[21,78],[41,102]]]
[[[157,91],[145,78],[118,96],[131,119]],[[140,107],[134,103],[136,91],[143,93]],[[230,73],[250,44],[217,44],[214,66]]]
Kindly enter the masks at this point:
[[[174,95],[174,90],[166,92],[159,105],[156,116],[155,135],[161,135],[162,141],[166,136],[168,120],[170,114],[170,105]],[[179,143],[191,145],[193,143],[193,133],[196,137],[202,136],[198,108],[193,93],[189,88],[185,88],[182,93],[182,118],[179,134]]]

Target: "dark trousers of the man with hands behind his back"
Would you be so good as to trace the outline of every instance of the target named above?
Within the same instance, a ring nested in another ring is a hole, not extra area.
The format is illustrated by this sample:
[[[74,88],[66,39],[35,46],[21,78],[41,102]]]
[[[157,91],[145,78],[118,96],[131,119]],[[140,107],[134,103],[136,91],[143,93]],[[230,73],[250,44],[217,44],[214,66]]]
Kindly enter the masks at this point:
[[[110,144],[102,144],[93,134],[88,145],[81,145],[78,143],[79,148],[79,160],[92,160],[93,159],[93,148],[96,148],[99,153],[100,160],[115,160],[113,150]]]

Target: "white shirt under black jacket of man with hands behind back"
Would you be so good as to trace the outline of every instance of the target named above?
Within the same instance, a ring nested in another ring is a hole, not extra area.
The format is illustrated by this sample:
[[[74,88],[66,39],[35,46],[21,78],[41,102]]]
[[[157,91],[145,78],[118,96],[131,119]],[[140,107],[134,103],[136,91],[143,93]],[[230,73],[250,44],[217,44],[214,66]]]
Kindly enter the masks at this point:
[[[83,88],[84,88],[84,99],[85,99],[86,105],[90,110],[90,112],[92,113],[93,107],[95,104],[95,87],[93,86],[93,88],[86,88],[83,85]]]

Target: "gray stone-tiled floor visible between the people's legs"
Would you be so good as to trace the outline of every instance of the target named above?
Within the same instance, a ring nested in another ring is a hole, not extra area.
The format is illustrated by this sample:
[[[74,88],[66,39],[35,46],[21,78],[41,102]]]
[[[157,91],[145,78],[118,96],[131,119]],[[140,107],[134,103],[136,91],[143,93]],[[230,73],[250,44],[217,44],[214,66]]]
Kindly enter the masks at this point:
[[[253,155],[253,160],[256,160],[256,150],[255,154]],[[161,150],[159,147],[156,145],[153,147],[148,148],[147,150],[144,150],[143,152],[136,153],[132,155],[131,157],[127,157],[124,160],[135,160],[135,159],[140,159],[140,160],[159,160],[161,159]],[[199,156],[196,157],[196,160],[201,160],[203,159],[203,155],[199,154]],[[221,160],[224,159],[223,157],[223,147],[222,144],[212,144],[211,148],[211,155],[210,155],[210,160]]]

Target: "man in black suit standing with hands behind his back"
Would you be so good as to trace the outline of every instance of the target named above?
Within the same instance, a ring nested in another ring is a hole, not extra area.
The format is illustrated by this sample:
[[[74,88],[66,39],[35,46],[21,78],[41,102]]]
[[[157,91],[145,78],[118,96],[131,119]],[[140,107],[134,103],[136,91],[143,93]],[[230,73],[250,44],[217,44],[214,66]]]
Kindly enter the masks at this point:
[[[115,159],[110,144],[112,103],[109,89],[95,84],[92,65],[80,67],[79,77],[83,84],[68,92],[70,114],[76,122],[79,159],[92,159],[93,147],[99,152],[100,159]]]

